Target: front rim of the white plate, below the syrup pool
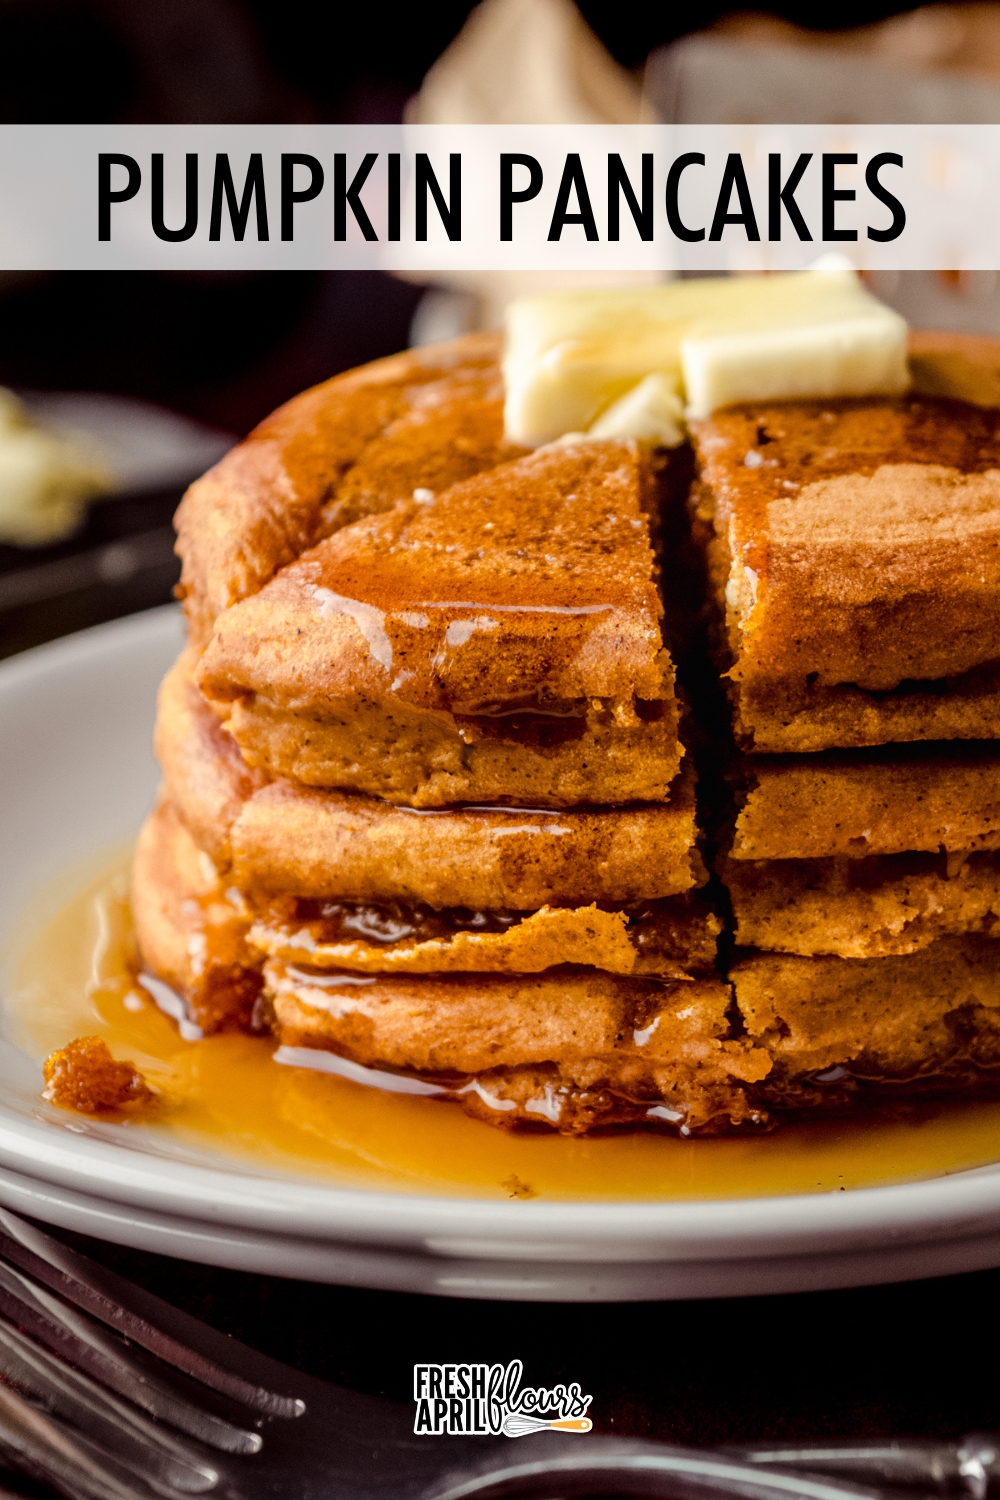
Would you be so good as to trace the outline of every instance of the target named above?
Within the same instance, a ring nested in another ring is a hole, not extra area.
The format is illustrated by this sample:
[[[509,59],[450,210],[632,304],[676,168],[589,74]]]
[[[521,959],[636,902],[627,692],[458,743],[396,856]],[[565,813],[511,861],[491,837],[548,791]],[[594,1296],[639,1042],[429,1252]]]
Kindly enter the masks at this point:
[[[63,1132],[64,1131],[64,1132]],[[916,1182],[810,1194],[682,1202],[553,1202],[448,1197],[340,1186],[292,1174],[226,1170],[144,1152],[127,1142],[82,1140],[60,1122],[0,1110],[0,1166],[66,1188],[100,1188],[121,1204],[303,1238],[423,1245],[444,1254],[571,1254],[628,1260],[739,1258],[862,1248],[1000,1228],[1000,1166]],[[513,1232],[513,1233],[511,1233]],[[565,1239],[564,1239],[565,1238]]]

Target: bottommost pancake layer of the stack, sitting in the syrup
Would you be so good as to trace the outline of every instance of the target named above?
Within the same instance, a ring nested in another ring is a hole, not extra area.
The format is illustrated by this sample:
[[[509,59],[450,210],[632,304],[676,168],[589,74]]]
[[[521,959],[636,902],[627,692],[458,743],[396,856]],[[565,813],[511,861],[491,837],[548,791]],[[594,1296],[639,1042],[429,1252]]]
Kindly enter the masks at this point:
[[[496,948],[493,972],[427,974],[420,944],[400,950],[411,972],[324,969],[307,948],[279,957],[259,942],[169,806],[139,843],[135,910],[147,964],[202,1029],[256,1020],[286,1047],[435,1080],[501,1125],[760,1126],[859,1090],[991,1088],[1000,1064],[1000,966],[984,938],[906,957],[744,956],[730,982],[565,963],[508,974]],[[568,916],[594,930],[592,912]]]

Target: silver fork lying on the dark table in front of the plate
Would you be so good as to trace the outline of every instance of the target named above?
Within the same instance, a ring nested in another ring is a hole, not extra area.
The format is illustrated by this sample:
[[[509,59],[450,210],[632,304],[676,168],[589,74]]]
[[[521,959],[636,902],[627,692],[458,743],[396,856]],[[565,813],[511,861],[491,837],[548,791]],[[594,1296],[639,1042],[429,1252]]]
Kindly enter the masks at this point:
[[[988,1436],[715,1452],[417,1437],[405,1406],[258,1354],[3,1209],[0,1380],[0,1454],[66,1500],[984,1500],[1000,1479]]]

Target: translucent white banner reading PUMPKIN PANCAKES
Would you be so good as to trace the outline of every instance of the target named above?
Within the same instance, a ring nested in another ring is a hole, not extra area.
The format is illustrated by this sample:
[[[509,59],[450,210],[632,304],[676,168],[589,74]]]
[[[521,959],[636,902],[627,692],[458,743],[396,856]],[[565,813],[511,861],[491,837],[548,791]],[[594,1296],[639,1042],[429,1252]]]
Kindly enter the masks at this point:
[[[999,270],[1000,124],[0,126],[6,270]]]

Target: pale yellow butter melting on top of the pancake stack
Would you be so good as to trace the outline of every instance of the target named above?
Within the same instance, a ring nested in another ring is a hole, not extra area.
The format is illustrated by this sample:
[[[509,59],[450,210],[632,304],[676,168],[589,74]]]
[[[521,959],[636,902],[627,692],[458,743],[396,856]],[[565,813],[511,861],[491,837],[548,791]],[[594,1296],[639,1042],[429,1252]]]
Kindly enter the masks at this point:
[[[730,400],[900,392],[906,322],[850,270],[525,298],[507,315],[507,435],[528,446],[597,435],[603,414],[654,374],[694,416]]]

